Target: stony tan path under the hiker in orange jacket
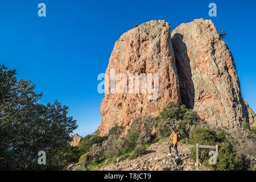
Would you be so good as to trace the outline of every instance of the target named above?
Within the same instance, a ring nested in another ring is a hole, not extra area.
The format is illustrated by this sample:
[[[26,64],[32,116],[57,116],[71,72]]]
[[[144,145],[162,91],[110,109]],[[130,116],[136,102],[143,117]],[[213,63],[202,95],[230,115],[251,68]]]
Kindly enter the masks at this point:
[[[191,162],[191,149],[193,146],[179,144],[178,150],[181,159],[179,165],[173,157],[167,156],[168,142],[151,144],[147,149],[147,154],[133,160],[123,160],[119,163],[109,164],[101,167],[101,171],[193,171],[201,170]],[[174,154],[174,151],[172,151]],[[204,169],[205,170],[205,169]]]

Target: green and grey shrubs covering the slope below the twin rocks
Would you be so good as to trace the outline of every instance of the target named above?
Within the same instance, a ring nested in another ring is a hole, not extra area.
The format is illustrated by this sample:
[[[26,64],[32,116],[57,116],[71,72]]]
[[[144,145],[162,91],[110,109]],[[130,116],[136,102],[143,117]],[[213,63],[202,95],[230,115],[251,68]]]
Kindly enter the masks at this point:
[[[203,165],[209,166],[213,170],[250,169],[250,161],[245,156],[237,154],[236,149],[228,140],[228,133],[209,129],[209,126],[200,121],[195,111],[175,103],[170,103],[159,114],[159,117],[146,116],[135,119],[125,137],[122,135],[124,129],[121,126],[113,127],[107,137],[99,137],[96,134],[85,137],[81,145],[90,143],[92,147],[89,152],[88,148],[84,150],[84,152],[88,152],[86,158],[82,165],[81,162],[77,163],[75,169],[96,169],[106,164],[115,163],[117,159],[120,161],[138,158],[147,153],[146,148],[151,143],[168,141],[172,128],[178,130],[183,136],[180,143],[188,141],[193,146],[196,143],[218,144],[219,154],[216,165],[208,163],[209,150],[200,150],[200,162]],[[81,146],[79,147],[81,148]],[[191,153],[192,160],[195,160],[195,148]]]

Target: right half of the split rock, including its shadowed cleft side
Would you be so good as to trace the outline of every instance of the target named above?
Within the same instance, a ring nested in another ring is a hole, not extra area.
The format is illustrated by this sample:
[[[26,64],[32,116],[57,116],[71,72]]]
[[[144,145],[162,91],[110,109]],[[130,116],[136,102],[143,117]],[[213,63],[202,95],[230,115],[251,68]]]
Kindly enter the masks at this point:
[[[216,126],[247,121],[232,53],[212,21],[183,23],[171,35],[183,104]]]

